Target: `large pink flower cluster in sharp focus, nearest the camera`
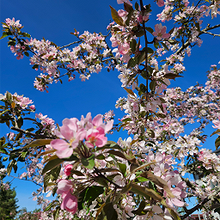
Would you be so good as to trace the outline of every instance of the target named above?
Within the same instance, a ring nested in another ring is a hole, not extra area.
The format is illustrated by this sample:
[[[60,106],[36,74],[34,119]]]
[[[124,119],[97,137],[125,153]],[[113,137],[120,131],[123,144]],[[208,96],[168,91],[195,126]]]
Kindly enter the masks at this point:
[[[56,149],[56,154],[60,158],[68,158],[75,148],[85,139],[84,144],[88,148],[102,147],[107,143],[105,136],[113,126],[113,120],[103,123],[103,116],[97,115],[92,119],[91,113],[86,118],[64,119],[63,125],[55,133],[61,139],[51,141],[50,145]]]

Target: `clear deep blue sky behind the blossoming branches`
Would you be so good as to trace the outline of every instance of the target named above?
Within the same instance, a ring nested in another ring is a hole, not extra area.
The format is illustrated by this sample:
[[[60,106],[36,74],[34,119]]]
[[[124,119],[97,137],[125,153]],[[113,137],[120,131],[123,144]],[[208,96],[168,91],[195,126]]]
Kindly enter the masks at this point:
[[[106,26],[111,19],[109,5],[116,9],[122,6],[117,5],[116,0],[1,0],[0,21],[15,17],[21,21],[24,31],[33,38],[44,37],[62,46],[74,40],[70,34],[74,28],[80,33],[88,30],[105,34]],[[220,22],[220,19],[218,21]],[[152,15],[150,24],[155,22]],[[202,39],[204,41],[202,47],[195,47],[191,57],[185,60],[187,71],[184,78],[172,82],[172,86],[181,86],[185,89],[195,85],[196,82],[204,83],[210,65],[217,64],[220,60],[220,38],[203,36]],[[17,60],[7,47],[6,39],[0,41],[0,51],[0,93],[17,92],[19,95],[29,97],[36,105],[36,112],[48,115],[58,124],[61,124],[64,118],[80,118],[87,112],[92,112],[95,116],[115,110],[116,100],[126,95],[120,87],[117,71],[108,73],[105,70],[93,74],[89,81],[81,82],[76,77],[72,82],[63,80],[63,85],[60,83],[51,85],[49,93],[39,92],[33,87],[33,82],[40,72],[31,68],[28,58]],[[117,117],[122,116],[119,110],[115,110],[115,113]],[[6,132],[6,127],[0,125],[0,135]],[[125,137],[123,134],[123,138]],[[211,145],[213,146],[213,143]],[[12,185],[16,187],[20,208],[27,207],[28,210],[33,210],[37,207],[30,198],[35,188],[32,183],[14,180]]]

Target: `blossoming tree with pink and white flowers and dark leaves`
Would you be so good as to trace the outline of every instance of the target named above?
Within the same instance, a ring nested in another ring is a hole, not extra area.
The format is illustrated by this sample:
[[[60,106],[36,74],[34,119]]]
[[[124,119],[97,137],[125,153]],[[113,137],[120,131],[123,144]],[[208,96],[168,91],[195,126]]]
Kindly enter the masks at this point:
[[[43,184],[35,193],[44,204],[41,219],[179,220],[197,210],[219,219],[220,157],[201,147],[209,123],[212,135],[220,132],[218,66],[211,66],[204,86],[167,87],[182,77],[184,58],[202,44],[203,35],[219,36],[213,30],[220,24],[203,27],[203,20],[218,16],[220,2],[117,2],[123,9],[110,6],[108,35],[74,30],[76,41],[64,46],[31,38],[15,19],[3,23],[2,38],[8,37],[12,53],[17,59],[30,57],[32,68],[42,72],[34,82],[37,90],[77,74],[85,81],[107,68],[118,70],[127,92],[116,103],[125,112],[119,124],[110,111],[65,118],[62,125],[41,113],[32,117],[35,106],[29,98],[2,94],[0,122],[12,130],[0,142],[7,172],[24,162],[27,172],[21,178]],[[154,27],[149,26],[152,4],[161,8]],[[26,128],[24,121],[33,126]],[[185,134],[189,123],[195,128]],[[130,135],[126,140],[107,139],[120,129]],[[187,173],[200,179],[192,181]],[[43,192],[57,197],[48,203]],[[189,209],[192,197],[197,202]]]

